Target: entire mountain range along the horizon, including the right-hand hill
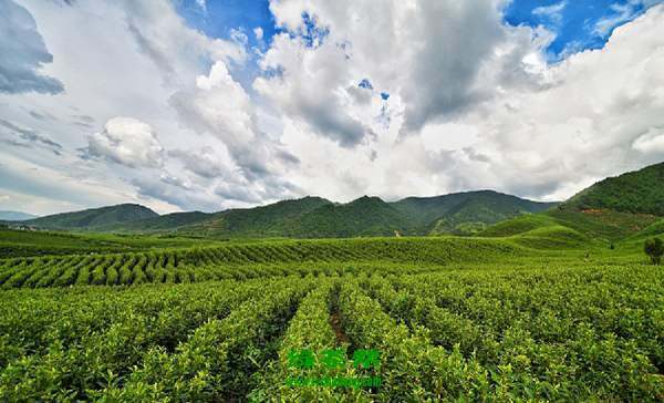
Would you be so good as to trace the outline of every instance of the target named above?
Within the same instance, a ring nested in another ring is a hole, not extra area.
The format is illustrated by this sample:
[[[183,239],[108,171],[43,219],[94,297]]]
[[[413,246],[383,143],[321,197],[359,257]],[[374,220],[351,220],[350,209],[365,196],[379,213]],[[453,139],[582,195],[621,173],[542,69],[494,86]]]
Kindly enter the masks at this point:
[[[6,219],[6,223],[58,230],[214,238],[343,238],[490,235],[535,225],[539,221],[517,220],[513,225],[487,230],[497,223],[538,213],[546,213],[549,218],[572,228],[580,225],[602,230],[612,228],[611,234],[622,234],[626,226],[640,230],[664,216],[664,163],[603,179],[564,203],[532,202],[494,190],[406,197],[397,202],[363,196],[345,204],[307,196],[218,213],[158,215],[142,205],[122,204],[14,223]]]

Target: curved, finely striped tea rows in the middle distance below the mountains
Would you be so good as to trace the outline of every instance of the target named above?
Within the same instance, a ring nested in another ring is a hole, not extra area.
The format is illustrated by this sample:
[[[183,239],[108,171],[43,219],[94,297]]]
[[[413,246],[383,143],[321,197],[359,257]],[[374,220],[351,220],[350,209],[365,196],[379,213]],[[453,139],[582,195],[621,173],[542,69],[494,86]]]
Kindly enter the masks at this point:
[[[295,273],[295,267],[339,267],[338,262],[439,266],[491,256],[523,254],[499,240],[345,239],[266,241],[148,252],[0,259],[0,287],[43,288],[180,283]],[[478,257],[479,256],[479,257]],[[280,268],[274,269],[276,266]],[[332,269],[336,270],[336,268]],[[345,269],[343,269],[345,270]],[[330,272],[328,272],[330,275]]]

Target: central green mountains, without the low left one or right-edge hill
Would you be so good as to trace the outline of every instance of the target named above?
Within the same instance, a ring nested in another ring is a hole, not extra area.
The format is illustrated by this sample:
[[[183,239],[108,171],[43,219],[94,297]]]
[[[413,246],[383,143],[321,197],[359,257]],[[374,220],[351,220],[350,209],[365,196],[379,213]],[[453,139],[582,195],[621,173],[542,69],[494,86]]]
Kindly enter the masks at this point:
[[[297,238],[473,234],[501,219],[554,205],[490,190],[408,197],[395,203],[369,196],[346,204],[305,197],[217,213],[178,231],[214,237]]]

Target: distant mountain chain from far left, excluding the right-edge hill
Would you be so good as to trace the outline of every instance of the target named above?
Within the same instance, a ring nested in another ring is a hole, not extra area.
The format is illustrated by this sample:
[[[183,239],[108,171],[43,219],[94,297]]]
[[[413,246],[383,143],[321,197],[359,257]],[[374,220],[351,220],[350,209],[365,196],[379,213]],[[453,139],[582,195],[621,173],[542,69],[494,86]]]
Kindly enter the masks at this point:
[[[177,232],[220,238],[473,234],[500,220],[542,211],[556,205],[492,190],[408,197],[394,203],[363,196],[341,204],[308,196],[253,208],[162,216],[145,206],[122,204],[62,213],[20,224],[43,229]]]

